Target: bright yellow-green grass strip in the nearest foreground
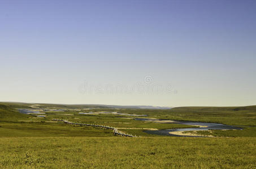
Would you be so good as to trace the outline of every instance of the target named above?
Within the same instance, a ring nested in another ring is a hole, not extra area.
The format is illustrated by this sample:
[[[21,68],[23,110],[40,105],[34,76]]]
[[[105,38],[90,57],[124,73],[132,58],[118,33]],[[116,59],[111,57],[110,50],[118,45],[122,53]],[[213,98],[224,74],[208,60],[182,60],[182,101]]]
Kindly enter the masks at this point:
[[[256,138],[0,138],[0,168],[255,168]]]

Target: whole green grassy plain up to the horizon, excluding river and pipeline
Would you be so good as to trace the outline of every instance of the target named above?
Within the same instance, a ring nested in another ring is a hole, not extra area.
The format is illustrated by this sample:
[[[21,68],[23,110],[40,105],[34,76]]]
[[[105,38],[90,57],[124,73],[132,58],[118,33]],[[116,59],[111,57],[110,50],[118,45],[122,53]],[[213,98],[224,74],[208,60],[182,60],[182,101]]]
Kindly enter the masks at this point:
[[[37,105],[37,108],[64,109],[64,112],[48,111],[46,117],[18,111],[37,109],[34,106],[0,103],[0,168],[256,168],[256,106],[151,110]],[[135,121],[129,115],[79,114],[101,111],[217,122],[241,126],[244,130],[198,131],[216,137],[158,136],[143,131],[192,126]],[[53,118],[118,127],[141,137],[118,137],[111,130],[53,122]]]

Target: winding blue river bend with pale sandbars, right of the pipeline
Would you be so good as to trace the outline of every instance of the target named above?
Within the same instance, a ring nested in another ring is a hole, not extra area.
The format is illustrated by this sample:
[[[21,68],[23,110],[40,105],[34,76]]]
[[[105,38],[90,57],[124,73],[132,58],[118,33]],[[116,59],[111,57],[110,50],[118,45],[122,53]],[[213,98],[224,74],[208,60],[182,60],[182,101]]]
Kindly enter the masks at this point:
[[[202,137],[202,136],[186,136],[179,135],[179,131],[203,131],[203,130],[242,130],[241,127],[228,126],[220,123],[205,123],[205,122],[192,122],[192,121],[171,121],[166,119],[149,119],[149,118],[134,118],[137,121],[159,122],[159,123],[176,123],[186,124],[190,126],[198,126],[195,128],[175,128],[166,130],[146,130],[147,134],[167,135],[167,136],[180,136],[180,137]]]

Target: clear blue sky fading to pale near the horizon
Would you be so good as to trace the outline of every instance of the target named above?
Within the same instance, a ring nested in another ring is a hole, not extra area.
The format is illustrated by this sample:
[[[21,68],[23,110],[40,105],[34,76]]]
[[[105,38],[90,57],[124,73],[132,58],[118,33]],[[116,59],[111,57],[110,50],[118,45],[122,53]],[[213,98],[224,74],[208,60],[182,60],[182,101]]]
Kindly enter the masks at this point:
[[[0,101],[256,105],[256,1],[2,0],[0,72]]]

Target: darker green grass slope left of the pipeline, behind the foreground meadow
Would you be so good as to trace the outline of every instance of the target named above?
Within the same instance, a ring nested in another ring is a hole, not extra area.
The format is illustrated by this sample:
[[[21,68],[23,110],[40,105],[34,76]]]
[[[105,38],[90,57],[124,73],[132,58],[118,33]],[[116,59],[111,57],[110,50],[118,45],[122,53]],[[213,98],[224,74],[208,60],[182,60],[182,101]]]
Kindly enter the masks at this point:
[[[16,122],[0,123],[0,125],[0,137],[106,137],[113,135],[111,130],[72,126],[62,122]]]

